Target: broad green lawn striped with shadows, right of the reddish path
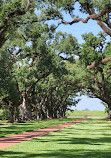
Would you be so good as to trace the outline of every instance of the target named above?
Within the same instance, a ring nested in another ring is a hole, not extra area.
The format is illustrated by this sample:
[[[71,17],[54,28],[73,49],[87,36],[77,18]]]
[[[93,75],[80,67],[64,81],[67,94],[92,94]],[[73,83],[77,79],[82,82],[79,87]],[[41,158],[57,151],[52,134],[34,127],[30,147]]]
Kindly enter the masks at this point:
[[[0,158],[111,158],[111,122],[88,119],[1,150]]]

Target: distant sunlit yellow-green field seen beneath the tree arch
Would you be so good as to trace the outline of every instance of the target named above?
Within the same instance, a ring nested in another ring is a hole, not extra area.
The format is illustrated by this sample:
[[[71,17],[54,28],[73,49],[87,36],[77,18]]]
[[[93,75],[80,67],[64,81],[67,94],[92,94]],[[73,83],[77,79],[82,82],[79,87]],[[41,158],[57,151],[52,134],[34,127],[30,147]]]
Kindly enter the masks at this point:
[[[105,111],[67,111],[66,115],[68,117],[107,117],[107,113],[105,113]]]

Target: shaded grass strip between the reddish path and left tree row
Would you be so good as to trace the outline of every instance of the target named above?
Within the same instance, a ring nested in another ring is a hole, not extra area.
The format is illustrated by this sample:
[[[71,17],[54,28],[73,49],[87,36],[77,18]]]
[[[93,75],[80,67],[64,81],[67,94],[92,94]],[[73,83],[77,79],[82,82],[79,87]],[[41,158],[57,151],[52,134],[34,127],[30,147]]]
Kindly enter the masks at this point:
[[[66,122],[75,121],[78,119],[80,118],[53,119],[46,121],[28,121],[26,123],[6,124],[5,126],[0,126],[0,137],[6,137],[9,135],[34,131],[37,129],[55,126]]]

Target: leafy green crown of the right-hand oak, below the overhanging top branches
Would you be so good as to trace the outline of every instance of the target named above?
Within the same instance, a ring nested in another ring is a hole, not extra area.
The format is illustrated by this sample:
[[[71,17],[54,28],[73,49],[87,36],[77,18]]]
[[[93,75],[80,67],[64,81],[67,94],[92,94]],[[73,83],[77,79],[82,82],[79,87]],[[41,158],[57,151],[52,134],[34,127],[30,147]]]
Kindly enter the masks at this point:
[[[111,98],[111,63],[101,63],[102,59],[110,57],[110,43],[106,44],[104,34],[95,37],[93,34],[83,35],[85,43],[82,44],[79,52],[80,62],[78,64],[81,69],[81,87],[83,94],[89,97],[96,97],[107,104],[110,109]],[[93,69],[88,70],[86,67],[93,63],[97,63]]]

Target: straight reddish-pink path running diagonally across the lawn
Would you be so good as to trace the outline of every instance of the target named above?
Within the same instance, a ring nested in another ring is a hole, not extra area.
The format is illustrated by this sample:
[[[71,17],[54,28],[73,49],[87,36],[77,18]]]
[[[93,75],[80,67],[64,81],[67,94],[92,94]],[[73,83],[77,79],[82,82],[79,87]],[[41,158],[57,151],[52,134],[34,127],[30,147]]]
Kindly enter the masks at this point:
[[[0,138],[0,149],[18,144],[18,143],[23,142],[23,141],[30,140],[32,138],[36,138],[38,136],[45,135],[49,132],[58,131],[62,128],[71,126],[73,124],[82,122],[84,120],[86,120],[86,118],[76,120],[76,121],[73,121],[73,122],[69,122],[69,123],[65,123],[65,124],[61,124],[61,125],[56,125],[56,126],[44,128],[44,129],[39,129],[39,130],[36,130],[36,131],[25,132],[25,133],[21,133],[21,134],[16,134],[16,135]]]

